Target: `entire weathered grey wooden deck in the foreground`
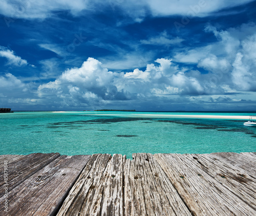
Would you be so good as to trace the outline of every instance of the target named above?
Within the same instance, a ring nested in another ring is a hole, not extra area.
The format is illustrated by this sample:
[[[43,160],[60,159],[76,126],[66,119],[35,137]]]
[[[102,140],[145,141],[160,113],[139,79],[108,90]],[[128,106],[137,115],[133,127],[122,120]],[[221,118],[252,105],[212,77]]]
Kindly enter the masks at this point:
[[[0,215],[256,215],[256,153],[37,153],[0,162]]]

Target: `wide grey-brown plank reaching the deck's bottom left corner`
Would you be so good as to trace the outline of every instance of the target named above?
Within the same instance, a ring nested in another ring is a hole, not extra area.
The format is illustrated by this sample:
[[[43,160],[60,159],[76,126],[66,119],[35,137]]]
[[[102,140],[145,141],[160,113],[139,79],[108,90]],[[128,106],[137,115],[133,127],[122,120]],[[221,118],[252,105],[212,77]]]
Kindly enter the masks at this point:
[[[8,215],[52,215],[91,156],[60,156],[9,192]],[[0,198],[3,202],[3,198]],[[0,211],[4,209],[0,206]]]

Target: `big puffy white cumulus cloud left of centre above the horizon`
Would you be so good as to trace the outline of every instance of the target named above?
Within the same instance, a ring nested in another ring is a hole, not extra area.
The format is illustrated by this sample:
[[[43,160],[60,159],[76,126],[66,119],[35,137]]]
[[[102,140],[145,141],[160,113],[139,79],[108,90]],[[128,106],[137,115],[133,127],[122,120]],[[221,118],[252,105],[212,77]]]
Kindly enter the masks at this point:
[[[122,91],[117,90],[113,81],[113,72],[103,68],[98,60],[88,58],[81,68],[69,69],[55,81],[41,84],[38,95],[73,105],[99,103],[101,100],[125,100]]]

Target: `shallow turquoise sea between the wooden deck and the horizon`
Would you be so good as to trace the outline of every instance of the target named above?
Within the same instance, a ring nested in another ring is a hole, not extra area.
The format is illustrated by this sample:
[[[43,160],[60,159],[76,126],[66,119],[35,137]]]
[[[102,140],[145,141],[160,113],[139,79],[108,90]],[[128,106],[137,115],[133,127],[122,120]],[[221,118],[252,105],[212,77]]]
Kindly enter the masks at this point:
[[[210,116],[208,116],[210,115]],[[256,152],[255,113],[14,112],[0,114],[0,155]]]

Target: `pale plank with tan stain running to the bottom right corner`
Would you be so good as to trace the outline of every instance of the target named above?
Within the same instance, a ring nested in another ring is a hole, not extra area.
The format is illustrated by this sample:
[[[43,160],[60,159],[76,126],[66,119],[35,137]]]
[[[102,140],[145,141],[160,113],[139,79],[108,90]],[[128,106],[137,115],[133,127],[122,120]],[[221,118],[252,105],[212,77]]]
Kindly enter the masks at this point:
[[[256,211],[234,196],[219,181],[179,154],[156,154],[167,177],[195,215],[255,215]]]

